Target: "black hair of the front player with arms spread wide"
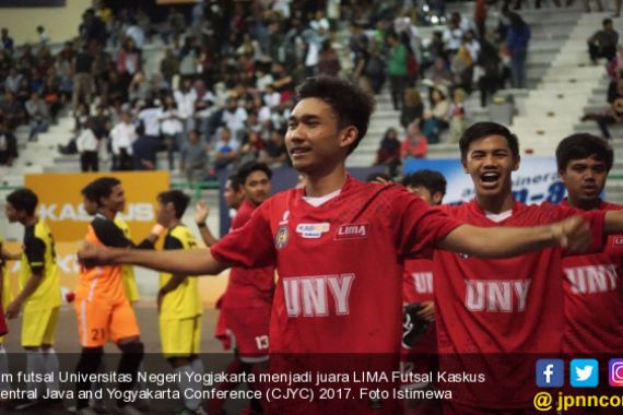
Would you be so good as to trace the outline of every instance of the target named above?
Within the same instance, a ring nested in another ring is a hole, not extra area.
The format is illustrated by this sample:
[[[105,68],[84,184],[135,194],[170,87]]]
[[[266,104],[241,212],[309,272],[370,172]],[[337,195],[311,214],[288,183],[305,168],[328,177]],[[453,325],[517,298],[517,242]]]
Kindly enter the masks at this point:
[[[327,75],[307,78],[298,86],[296,100],[306,98],[318,98],[331,106],[340,129],[349,126],[357,129],[357,138],[348,152],[351,154],[367,132],[369,117],[374,111],[374,98],[344,79]]]

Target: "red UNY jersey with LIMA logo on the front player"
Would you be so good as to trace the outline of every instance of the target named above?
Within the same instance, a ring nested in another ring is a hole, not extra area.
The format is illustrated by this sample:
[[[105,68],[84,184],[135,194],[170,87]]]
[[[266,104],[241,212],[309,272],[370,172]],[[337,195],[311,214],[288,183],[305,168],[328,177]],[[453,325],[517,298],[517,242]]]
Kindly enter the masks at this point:
[[[277,264],[271,353],[398,353],[402,258],[460,223],[402,187],[350,177],[319,206],[303,197],[272,197],[211,249],[236,266]]]

